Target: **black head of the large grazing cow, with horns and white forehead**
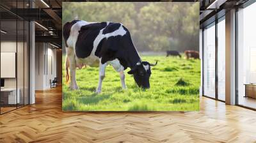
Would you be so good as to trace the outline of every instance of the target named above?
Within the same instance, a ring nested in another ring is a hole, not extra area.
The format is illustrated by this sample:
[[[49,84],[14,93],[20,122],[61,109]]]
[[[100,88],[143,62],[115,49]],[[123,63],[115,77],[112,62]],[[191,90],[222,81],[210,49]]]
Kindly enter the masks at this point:
[[[147,61],[139,62],[128,72],[128,74],[133,74],[133,78],[139,87],[142,87],[143,89],[149,88],[149,77],[151,75],[150,67],[156,66],[156,64],[150,64]]]

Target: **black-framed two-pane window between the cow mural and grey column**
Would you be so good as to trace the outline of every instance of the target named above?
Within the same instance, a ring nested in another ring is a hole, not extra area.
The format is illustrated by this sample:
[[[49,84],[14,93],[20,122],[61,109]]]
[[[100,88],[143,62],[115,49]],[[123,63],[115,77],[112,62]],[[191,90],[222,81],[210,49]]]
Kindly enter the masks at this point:
[[[225,15],[204,27],[202,40],[203,95],[225,102]]]

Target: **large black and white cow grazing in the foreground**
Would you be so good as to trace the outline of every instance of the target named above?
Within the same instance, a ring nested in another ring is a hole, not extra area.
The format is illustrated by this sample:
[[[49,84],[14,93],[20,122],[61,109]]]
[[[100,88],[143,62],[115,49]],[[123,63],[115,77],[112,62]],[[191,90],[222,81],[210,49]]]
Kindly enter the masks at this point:
[[[121,23],[73,20],[63,26],[63,37],[67,52],[66,77],[67,80],[70,79],[70,89],[78,89],[76,68],[85,65],[99,66],[99,84],[96,92],[100,93],[108,64],[120,73],[123,89],[126,88],[124,70],[127,67],[131,68],[128,74],[134,75],[139,87],[150,87],[150,66],[156,66],[157,63],[141,61],[129,31]]]

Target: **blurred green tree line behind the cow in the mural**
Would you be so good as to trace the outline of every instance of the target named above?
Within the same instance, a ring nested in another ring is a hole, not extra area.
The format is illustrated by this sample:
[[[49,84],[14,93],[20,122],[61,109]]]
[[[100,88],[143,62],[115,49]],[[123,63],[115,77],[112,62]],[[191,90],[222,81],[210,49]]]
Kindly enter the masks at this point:
[[[199,3],[63,3],[62,20],[122,22],[136,49],[199,50]]]

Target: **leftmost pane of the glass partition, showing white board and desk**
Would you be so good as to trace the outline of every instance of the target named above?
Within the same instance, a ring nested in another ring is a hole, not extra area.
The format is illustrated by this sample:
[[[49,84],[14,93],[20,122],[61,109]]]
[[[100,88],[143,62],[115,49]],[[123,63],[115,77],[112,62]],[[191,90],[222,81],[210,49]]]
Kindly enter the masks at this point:
[[[17,21],[1,21],[1,113],[17,108]],[[3,32],[4,31],[4,32]]]

